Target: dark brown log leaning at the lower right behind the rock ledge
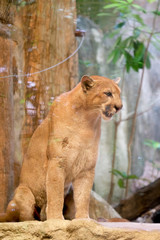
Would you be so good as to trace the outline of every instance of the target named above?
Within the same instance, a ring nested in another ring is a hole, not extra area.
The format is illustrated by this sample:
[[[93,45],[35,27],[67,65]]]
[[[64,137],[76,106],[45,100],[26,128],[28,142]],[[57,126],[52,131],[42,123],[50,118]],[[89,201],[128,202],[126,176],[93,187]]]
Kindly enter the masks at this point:
[[[122,200],[115,210],[128,220],[134,220],[149,209],[160,204],[160,178],[148,186],[140,188],[131,197]]]

